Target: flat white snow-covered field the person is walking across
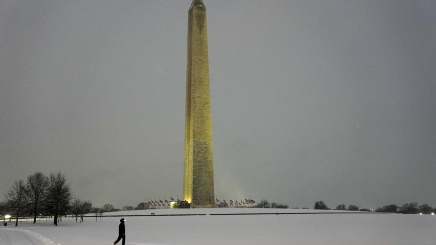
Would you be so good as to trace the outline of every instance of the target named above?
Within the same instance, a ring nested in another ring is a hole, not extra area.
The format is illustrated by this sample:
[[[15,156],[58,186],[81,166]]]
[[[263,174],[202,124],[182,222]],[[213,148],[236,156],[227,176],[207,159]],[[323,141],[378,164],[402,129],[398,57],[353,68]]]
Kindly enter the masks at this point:
[[[318,212],[293,209],[135,210],[105,215]],[[328,211],[328,210],[327,210]],[[336,210],[330,210],[330,212]],[[0,245],[111,245],[120,217],[1,227]],[[436,215],[264,214],[126,217],[126,245],[436,245]],[[118,244],[121,244],[118,243]]]

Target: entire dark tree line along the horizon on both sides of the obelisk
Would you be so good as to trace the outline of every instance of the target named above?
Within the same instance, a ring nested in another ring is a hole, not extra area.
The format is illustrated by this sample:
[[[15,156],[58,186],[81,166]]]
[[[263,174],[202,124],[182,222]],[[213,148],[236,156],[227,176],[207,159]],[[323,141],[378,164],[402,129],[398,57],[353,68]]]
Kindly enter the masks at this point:
[[[223,201],[217,204],[218,207],[229,207]],[[288,209],[288,205],[279,204],[263,199],[253,208],[276,208]],[[146,209],[145,203],[139,203],[136,207],[124,206],[122,210],[143,210]],[[307,209],[307,208],[303,208]],[[323,201],[317,201],[314,205],[315,210],[330,210]],[[62,216],[72,214],[80,223],[87,213],[94,213],[97,217],[103,212],[119,211],[111,204],[105,204],[101,208],[92,207],[90,200],[73,198],[70,183],[67,181],[66,175],[58,172],[51,173],[49,176],[41,172],[36,172],[28,176],[27,181],[15,180],[10,189],[4,195],[4,201],[0,202],[0,217],[5,214],[13,214],[16,219],[15,226],[18,226],[19,217],[28,217],[33,215],[33,223],[36,223],[38,214],[43,216],[53,217],[53,224],[57,226],[58,221]],[[374,211],[369,209],[360,209],[356,205],[339,204],[333,210],[349,210],[349,211]],[[417,202],[405,203],[401,206],[395,204],[386,205],[377,208],[375,212],[392,212],[392,213],[422,213],[431,214],[436,212],[428,204],[419,205]]]

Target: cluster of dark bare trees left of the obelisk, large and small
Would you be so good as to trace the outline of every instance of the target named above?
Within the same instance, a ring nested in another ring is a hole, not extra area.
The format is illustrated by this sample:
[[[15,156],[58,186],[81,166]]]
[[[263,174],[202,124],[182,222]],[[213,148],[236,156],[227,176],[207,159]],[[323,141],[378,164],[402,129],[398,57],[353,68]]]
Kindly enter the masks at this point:
[[[33,216],[33,223],[36,223],[39,215],[50,216],[53,217],[53,224],[57,226],[62,216],[67,214],[75,216],[76,222],[79,218],[82,223],[87,213],[94,213],[97,221],[97,216],[101,220],[103,212],[119,210],[111,204],[105,204],[101,208],[92,207],[90,200],[73,198],[67,177],[60,172],[48,176],[36,172],[28,176],[26,182],[22,179],[15,180],[4,195],[4,200],[0,202],[0,217],[12,214],[16,221],[15,226],[18,226],[19,217]]]

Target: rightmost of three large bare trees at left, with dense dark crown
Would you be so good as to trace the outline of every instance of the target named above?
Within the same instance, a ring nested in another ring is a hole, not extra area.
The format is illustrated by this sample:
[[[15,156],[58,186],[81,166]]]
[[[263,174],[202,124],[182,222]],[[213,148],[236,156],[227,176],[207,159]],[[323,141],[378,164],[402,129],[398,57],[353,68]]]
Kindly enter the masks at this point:
[[[70,184],[62,173],[51,173],[47,187],[46,205],[54,215],[53,224],[57,226],[59,214],[63,214],[71,200]]]

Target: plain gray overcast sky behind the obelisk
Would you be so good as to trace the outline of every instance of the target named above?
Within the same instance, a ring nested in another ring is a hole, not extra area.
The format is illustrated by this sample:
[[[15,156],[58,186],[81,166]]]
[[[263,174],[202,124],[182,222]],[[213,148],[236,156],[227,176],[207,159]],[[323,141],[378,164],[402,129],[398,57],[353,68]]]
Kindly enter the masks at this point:
[[[0,0],[0,199],[182,198],[191,0]],[[436,206],[436,1],[204,0],[218,199]]]

